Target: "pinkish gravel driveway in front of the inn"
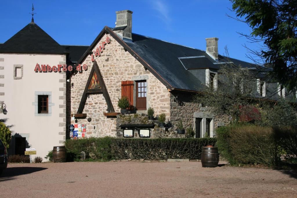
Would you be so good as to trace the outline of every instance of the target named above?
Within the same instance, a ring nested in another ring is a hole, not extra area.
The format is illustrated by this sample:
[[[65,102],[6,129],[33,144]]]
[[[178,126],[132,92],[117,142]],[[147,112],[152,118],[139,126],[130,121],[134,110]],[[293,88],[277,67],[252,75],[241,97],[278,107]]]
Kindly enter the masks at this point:
[[[8,164],[0,197],[296,197],[296,171],[200,162]]]

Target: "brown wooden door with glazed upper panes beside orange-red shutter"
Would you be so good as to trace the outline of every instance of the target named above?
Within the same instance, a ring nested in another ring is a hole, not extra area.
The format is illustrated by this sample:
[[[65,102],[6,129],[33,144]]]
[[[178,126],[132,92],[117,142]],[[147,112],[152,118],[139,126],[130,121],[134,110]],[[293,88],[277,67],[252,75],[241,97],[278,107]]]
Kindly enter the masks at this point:
[[[136,109],[146,110],[146,80],[136,82]]]

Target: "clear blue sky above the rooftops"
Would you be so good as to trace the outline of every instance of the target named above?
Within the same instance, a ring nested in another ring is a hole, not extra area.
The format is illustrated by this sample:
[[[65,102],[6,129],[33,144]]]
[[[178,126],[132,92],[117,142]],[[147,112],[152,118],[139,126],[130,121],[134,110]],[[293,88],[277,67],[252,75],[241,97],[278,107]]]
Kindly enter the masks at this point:
[[[114,27],[116,11],[133,11],[132,31],[168,42],[205,50],[205,38],[219,38],[219,53],[227,45],[229,56],[250,62],[245,37],[250,28],[226,16],[235,16],[228,0],[131,0],[131,1],[74,1],[74,0],[1,0],[0,43],[4,43],[34,21],[61,45],[90,45],[104,26]]]

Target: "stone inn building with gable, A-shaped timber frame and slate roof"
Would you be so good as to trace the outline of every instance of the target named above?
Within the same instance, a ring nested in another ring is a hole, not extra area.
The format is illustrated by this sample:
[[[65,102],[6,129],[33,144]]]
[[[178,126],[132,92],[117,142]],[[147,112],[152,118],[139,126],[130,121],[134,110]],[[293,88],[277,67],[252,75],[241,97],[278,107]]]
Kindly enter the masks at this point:
[[[70,76],[69,122],[84,125],[86,137],[124,137],[117,126],[122,119],[117,103],[127,96],[135,109],[133,113],[146,114],[152,107],[155,115],[166,114],[171,130],[181,119],[185,128],[193,127],[195,137],[204,137],[206,133],[213,137],[215,129],[230,118],[213,115],[206,107],[192,102],[192,97],[206,85],[217,87],[218,70],[228,63],[252,67],[219,55],[218,38],[206,39],[206,51],[185,47],[132,33],[132,12],[116,12],[116,26],[102,29],[78,61],[81,70]],[[258,97],[266,96],[268,84],[260,83],[263,87]],[[270,88],[274,84],[277,89],[279,85],[273,82]],[[285,88],[279,89],[279,96],[284,95]]]

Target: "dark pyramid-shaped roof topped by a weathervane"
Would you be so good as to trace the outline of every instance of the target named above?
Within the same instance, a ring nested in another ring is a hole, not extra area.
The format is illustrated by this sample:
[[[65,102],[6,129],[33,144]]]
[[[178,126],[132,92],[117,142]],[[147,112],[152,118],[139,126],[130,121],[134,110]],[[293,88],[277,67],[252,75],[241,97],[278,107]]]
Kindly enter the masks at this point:
[[[43,31],[36,23],[29,23],[18,33],[0,45],[6,53],[67,53],[59,43]]]

